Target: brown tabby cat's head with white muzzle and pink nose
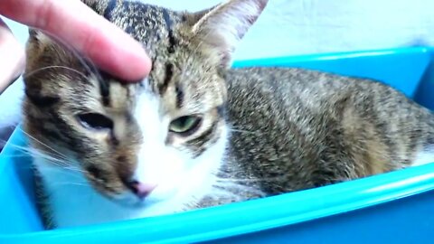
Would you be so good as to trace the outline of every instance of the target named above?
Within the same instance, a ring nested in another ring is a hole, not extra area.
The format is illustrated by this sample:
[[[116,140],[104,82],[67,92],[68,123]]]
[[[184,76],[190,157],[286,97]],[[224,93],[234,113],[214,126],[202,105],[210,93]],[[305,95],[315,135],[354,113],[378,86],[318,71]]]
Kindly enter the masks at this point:
[[[268,1],[233,0],[194,14],[84,2],[142,42],[153,69],[146,80],[123,83],[31,31],[24,128],[33,147],[69,158],[43,166],[79,168],[68,174],[127,202],[200,199],[214,183],[228,137],[225,70]]]

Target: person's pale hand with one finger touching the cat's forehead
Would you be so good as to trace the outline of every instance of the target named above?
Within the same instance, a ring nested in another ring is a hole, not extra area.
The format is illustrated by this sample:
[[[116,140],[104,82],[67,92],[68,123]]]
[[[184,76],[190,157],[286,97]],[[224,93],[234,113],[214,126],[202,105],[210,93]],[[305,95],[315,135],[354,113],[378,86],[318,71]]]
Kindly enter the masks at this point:
[[[52,35],[121,80],[142,80],[151,69],[140,43],[80,0],[1,0],[0,94],[25,65],[24,47],[14,39],[2,15]]]

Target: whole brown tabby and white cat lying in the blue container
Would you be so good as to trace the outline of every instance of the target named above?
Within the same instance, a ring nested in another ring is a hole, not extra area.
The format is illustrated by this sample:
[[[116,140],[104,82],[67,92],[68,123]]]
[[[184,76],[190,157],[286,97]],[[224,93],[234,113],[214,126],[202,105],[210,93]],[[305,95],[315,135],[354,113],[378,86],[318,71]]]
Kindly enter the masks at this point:
[[[30,30],[24,131],[38,152],[47,229],[248,201],[434,155],[432,113],[379,81],[231,69],[267,0],[231,0],[197,13],[83,2],[143,43],[153,68],[144,80],[123,82]]]

